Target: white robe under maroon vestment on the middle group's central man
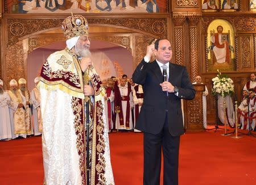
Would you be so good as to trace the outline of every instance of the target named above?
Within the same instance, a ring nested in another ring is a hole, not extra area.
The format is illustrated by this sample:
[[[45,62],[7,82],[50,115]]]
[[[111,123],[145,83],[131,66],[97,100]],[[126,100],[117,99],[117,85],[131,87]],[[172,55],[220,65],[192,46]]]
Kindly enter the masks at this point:
[[[121,96],[127,96],[128,95],[128,88],[126,86],[122,87],[119,86],[119,91],[120,91],[120,95]],[[129,127],[125,127],[125,125],[120,125],[120,121],[119,121],[119,113],[117,113],[117,118],[115,119],[115,128],[118,128],[119,130],[121,129],[126,129],[126,130],[131,130],[133,129],[133,118],[131,115],[131,108],[134,107],[133,104],[133,94],[130,93],[129,94],[129,103],[130,103],[130,118],[129,118]],[[125,124],[125,120],[126,120],[126,110],[127,110],[127,101],[122,101],[122,111],[123,111],[123,123]]]

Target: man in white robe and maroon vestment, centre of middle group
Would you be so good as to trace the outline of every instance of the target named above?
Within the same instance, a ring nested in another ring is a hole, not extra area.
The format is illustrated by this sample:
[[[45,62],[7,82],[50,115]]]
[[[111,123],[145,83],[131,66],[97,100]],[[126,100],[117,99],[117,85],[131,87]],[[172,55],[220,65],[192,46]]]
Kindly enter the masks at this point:
[[[117,117],[115,119],[115,128],[119,130],[131,130],[133,129],[133,120],[131,115],[131,108],[134,106],[133,104],[133,95],[131,94],[131,84],[127,83],[126,79],[121,78],[120,85],[117,87],[119,91],[115,93],[115,107],[121,105],[119,107],[119,111],[117,112]]]

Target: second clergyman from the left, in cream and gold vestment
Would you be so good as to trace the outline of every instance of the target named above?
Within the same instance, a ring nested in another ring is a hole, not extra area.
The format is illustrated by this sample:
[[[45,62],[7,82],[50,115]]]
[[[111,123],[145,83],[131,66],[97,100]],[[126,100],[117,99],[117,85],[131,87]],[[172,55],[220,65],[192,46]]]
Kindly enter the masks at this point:
[[[10,81],[10,90],[8,91],[11,102],[9,105],[11,134],[12,138],[18,136],[27,137],[31,133],[30,125],[25,122],[26,99],[18,91],[18,82],[15,79]]]

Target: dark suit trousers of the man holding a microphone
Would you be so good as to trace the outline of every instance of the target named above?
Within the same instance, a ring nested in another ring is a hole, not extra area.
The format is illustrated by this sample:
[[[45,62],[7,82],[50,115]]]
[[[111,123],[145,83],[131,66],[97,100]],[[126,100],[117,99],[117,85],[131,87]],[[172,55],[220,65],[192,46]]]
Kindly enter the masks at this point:
[[[178,184],[179,145],[180,136],[171,136],[168,131],[167,116],[160,133],[144,132],[144,185],[160,184],[162,149],[164,158],[163,184]]]

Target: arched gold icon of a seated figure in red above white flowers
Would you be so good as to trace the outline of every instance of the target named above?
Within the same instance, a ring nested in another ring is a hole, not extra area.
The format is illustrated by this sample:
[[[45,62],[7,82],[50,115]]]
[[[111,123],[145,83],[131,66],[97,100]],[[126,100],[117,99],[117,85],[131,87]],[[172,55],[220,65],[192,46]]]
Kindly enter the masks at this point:
[[[213,20],[207,30],[208,71],[235,70],[234,28],[224,19]]]

